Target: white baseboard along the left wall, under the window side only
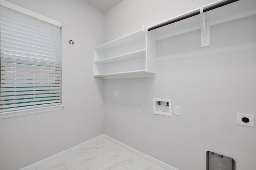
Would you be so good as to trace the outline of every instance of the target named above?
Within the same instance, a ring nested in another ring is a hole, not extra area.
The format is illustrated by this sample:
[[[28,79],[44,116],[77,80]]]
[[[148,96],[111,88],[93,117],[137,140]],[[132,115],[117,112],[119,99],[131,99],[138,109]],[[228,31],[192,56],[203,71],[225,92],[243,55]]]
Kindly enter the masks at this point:
[[[86,145],[90,145],[90,144],[92,144],[92,143],[102,139],[103,137],[104,137],[104,135],[100,135],[100,136],[94,137],[94,138],[92,138],[92,139],[90,139],[88,141],[85,141],[83,143],[80,143],[80,144],[78,144],[78,145],[76,145],[76,146],[74,146],[72,148],[66,149],[66,150],[64,150],[64,151],[62,151],[60,153],[54,154],[54,155],[52,155],[52,156],[50,156],[48,158],[45,158],[43,160],[40,160],[40,161],[38,161],[38,162],[36,162],[34,164],[31,164],[29,166],[21,168],[20,170],[35,170],[36,168],[39,168],[39,167],[41,167],[41,166],[43,166],[45,164],[48,164],[48,163],[50,163],[50,162],[52,162],[52,161],[54,161],[54,160],[56,160],[56,159],[58,159],[58,158],[60,158],[62,156],[65,156],[67,154],[70,154],[70,153],[74,152],[75,150],[79,149],[80,147],[84,147]]]

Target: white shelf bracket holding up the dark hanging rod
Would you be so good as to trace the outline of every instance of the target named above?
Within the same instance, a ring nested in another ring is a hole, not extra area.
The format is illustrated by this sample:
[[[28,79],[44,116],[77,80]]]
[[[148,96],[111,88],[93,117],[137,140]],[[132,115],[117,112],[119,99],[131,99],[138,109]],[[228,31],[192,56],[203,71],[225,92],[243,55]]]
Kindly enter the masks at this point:
[[[210,46],[210,25],[207,24],[207,19],[203,8],[200,9],[200,14],[202,16],[201,47],[207,47]]]

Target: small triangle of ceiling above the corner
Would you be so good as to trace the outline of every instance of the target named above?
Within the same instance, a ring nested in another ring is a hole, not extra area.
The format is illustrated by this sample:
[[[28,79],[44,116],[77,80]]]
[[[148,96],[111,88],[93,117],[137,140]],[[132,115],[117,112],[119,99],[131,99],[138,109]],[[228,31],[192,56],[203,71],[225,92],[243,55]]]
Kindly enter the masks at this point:
[[[116,6],[122,1],[123,0],[84,0],[84,2],[86,2],[90,6],[93,6],[94,8],[103,13],[105,13],[106,11],[108,11],[109,9]]]

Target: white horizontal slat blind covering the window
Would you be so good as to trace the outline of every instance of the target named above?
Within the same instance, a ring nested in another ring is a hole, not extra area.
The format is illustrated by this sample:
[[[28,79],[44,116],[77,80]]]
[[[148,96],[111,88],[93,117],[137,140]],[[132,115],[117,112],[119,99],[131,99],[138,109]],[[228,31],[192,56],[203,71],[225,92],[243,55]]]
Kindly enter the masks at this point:
[[[61,27],[0,6],[0,112],[61,104]]]

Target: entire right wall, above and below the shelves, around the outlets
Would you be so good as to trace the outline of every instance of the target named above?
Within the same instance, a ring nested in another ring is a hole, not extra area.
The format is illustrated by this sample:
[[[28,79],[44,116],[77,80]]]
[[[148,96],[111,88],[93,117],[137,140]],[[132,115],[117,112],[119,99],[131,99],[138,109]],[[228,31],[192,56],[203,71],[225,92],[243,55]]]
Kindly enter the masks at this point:
[[[210,2],[124,0],[105,14],[105,41]],[[104,80],[104,133],[180,170],[205,170],[208,150],[255,170],[255,128],[236,125],[236,113],[256,115],[255,20],[211,27],[210,47],[199,30],[158,41],[154,78]],[[181,116],[153,115],[153,98]]]

